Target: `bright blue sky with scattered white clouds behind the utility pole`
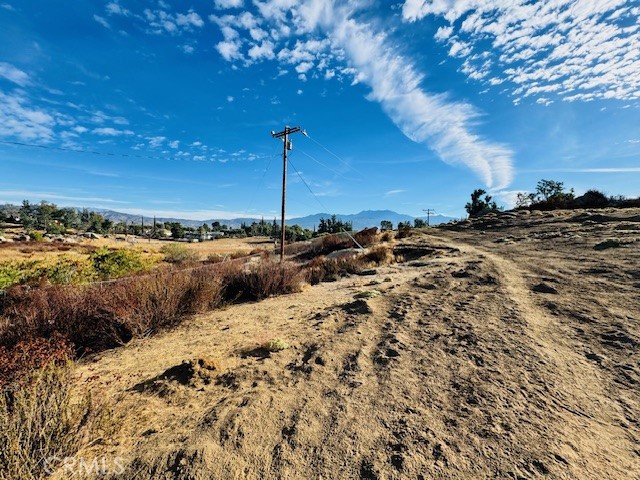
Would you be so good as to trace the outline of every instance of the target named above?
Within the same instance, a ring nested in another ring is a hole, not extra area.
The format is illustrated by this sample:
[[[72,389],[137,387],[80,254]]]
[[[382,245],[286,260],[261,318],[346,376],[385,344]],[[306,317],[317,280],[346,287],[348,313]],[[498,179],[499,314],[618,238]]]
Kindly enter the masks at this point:
[[[0,0],[0,202],[191,219],[640,196],[635,0]]]

